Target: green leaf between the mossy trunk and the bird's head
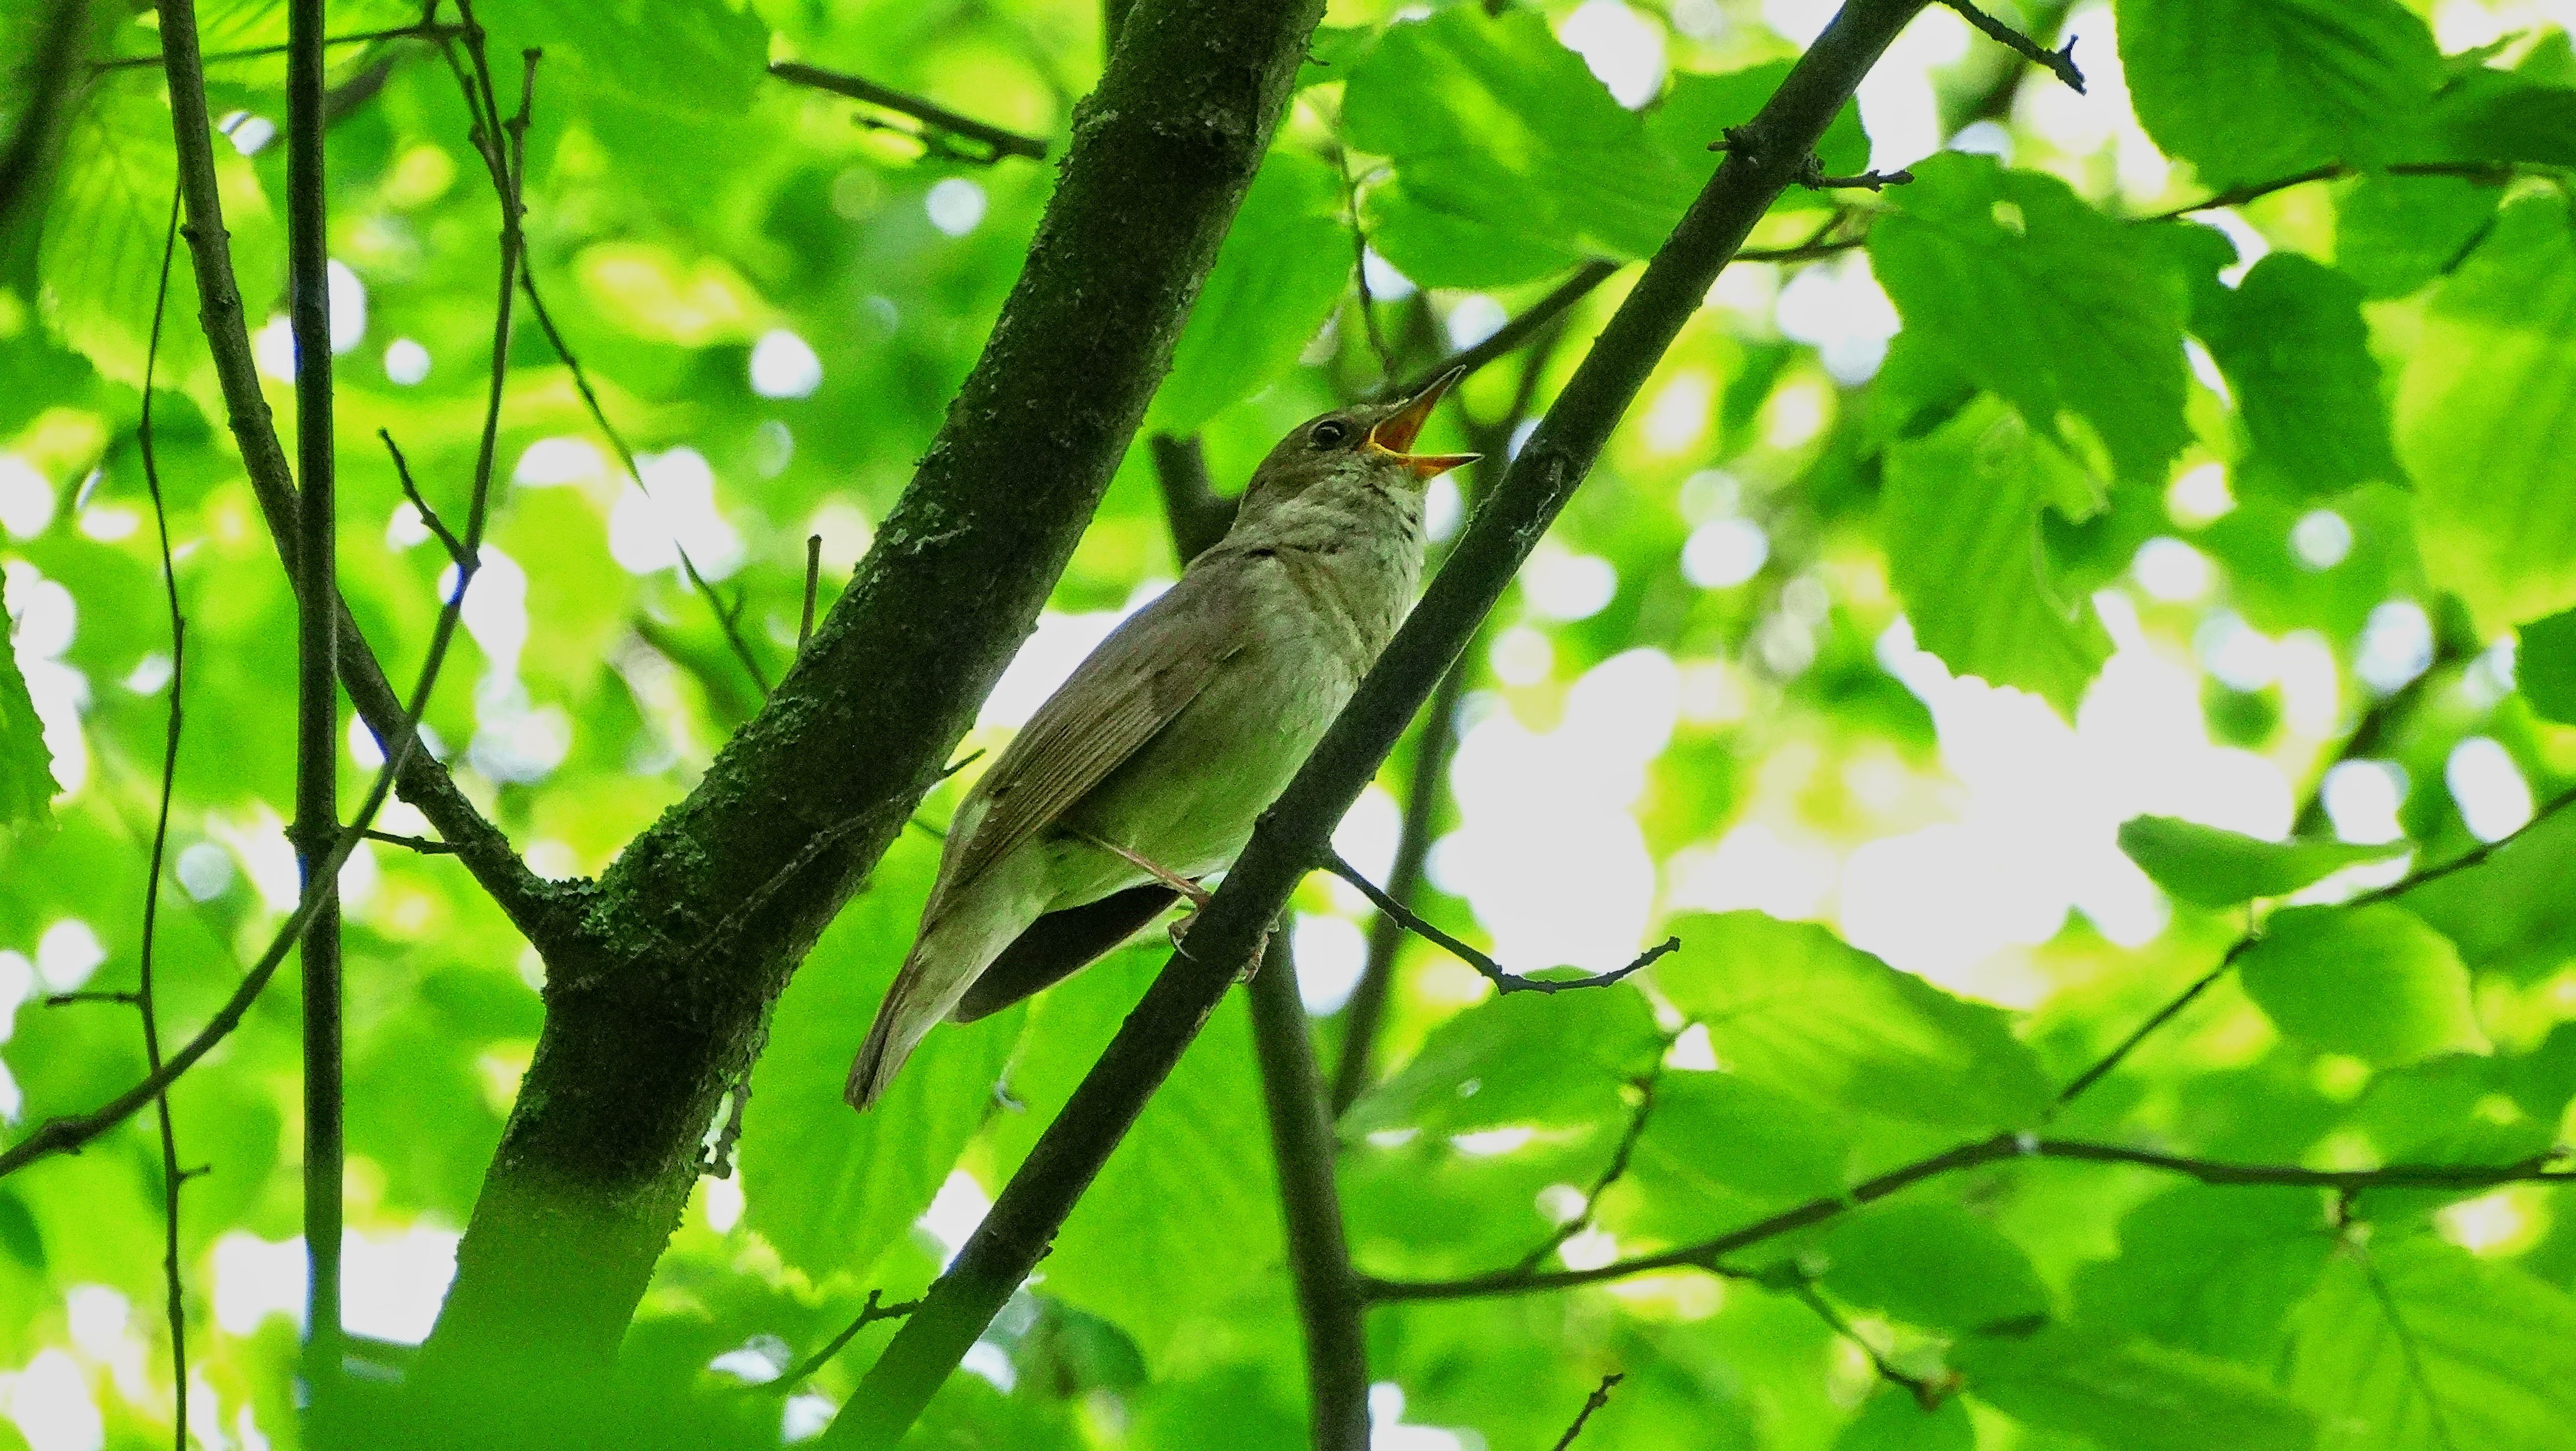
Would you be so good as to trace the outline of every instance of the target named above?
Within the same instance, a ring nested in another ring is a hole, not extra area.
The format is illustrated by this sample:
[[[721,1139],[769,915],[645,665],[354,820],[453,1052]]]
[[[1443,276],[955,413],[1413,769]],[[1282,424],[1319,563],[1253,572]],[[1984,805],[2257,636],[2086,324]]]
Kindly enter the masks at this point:
[[[1270,387],[1296,366],[1345,281],[1342,178],[1316,157],[1273,149],[1190,307],[1146,428],[1195,433],[1216,410]]]

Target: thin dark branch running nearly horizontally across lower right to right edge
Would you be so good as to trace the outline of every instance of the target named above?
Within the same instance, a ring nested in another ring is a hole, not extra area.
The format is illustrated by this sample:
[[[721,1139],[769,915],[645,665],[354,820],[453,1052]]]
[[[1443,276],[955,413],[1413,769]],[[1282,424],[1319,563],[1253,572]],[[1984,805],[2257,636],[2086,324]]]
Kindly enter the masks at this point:
[[[2336,1188],[2347,1193],[2362,1188],[2491,1188],[2504,1183],[2576,1183],[2576,1170],[2548,1168],[2550,1162],[2558,1162],[2555,1152],[2548,1157],[2522,1160],[2512,1165],[2388,1165],[2378,1170],[2311,1170],[2300,1165],[2239,1165],[2223,1160],[2195,1160],[2184,1155],[2130,1149],[2123,1144],[2094,1144],[2081,1139],[1994,1134],[1991,1139],[1958,1144],[1932,1157],[1914,1160],[1911,1165],[1888,1170],[1873,1180],[1852,1186],[1847,1193],[1839,1193],[1834,1198],[1811,1198],[1793,1209],[1783,1209],[1770,1219],[1759,1219],[1754,1224],[1747,1224],[1744,1229],[1731,1229],[1726,1235],[1718,1235],[1713,1240],[1700,1240],[1695,1245],[1680,1245],[1672,1250],[1659,1250],[1654,1255],[1613,1260],[1607,1265],[1597,1265],[1589,1271],[1515,1268],[1515,1271],[1497,1271],[1455,1281],[1381,1281],[1376,1276],[1360,1276],[1360,1294],[1368,1296],[1370,1304],[1386,1304],[1401,1299],[1476,1299],[1486,1294],[1533,1294],[1533,1291],[1574,1289],[1574,1286],[1618,1281],[1649,1271],[1672,1271],[1672,1268],[1734,1273],[1726,1271],[1721,1260],[1726,1255],[1734,1255],[1736,1250],[1759,1245],[1765,1240],[1777,1240],[1780,1235],[1806,1229],[1808,1224],[1821,1224],[1847,1209],[1875,1204],[1927,1178],[1940,1178],[1947,1173],[2004,1160],[2020,1160],[2020,1157],[2136,1165],[2159,1173],[2177,1173],[2213,1186]]]

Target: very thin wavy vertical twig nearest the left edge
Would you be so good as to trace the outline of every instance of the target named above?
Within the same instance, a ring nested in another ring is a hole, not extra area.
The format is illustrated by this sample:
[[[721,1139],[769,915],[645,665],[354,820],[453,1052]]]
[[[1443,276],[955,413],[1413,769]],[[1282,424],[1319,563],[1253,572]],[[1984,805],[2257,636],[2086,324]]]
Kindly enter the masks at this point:
[[[152,376],[160,366],[162,317],[170,307],[170,263],[178,255],[180,188],[170,183],[170,229],[162,237],[160,286],[152,294],[152,340],[144,345],[144,407],[134,438],[144,456],[144,487],[152,490],[152,526],[162,554],[162,601],[170,606],[170,727],[162,737],[160,812],[152,820],[152,863],[144,871],[144,941],[134,977],[134,1008],[144,1021],[144,1072],[160,1072],[160,1005],[155,1000],[155,941],[160,928],[160,871],[170,848],[170,791],[178,783],[178,735],[188,683],[188,619],[178,606],[178,562],[170,554],[170,508],[160,487],[160,454],[152,446]],[[170,1317],[170,1451],[188,1451],[188,1291],[178,1265],[178,1191],[188,1180],[178,1170],[178,1129],[170,1124],[170,1090],[152,1095],[162,1147],[162,1289]]]

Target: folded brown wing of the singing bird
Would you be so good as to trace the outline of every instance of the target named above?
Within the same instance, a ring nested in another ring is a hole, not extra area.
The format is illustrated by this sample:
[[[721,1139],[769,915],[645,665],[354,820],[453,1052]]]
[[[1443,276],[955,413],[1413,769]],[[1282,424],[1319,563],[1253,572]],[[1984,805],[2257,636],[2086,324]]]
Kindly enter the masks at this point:
[[[976,783],[984,812],[940,863],[938,897],[1054,825],[1172,724],[1244,649],[1239,601],[1242,590],[1226,590],[1218,572],[1193,570],[1103,639]]]

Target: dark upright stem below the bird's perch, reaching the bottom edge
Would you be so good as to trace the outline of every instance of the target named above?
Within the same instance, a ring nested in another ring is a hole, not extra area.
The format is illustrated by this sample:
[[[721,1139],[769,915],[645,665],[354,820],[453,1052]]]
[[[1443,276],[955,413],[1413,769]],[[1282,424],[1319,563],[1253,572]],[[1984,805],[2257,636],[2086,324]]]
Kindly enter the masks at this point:
[[[1270,933],[1252,977],[1252,1046],[1262,1062],[1270,1155],[1288,1219],[1288,1273],[1306,1330],[1306,1399],[1316,1451],[1368,1451],[1368,1327],[1350,1273],[1342,1193],[1332,1180],[1332,1124],[1314,1070],[1306,1003],[1298,997],[1288,933]]]

